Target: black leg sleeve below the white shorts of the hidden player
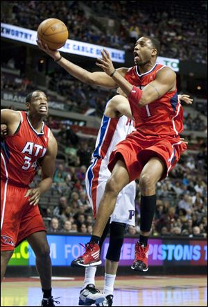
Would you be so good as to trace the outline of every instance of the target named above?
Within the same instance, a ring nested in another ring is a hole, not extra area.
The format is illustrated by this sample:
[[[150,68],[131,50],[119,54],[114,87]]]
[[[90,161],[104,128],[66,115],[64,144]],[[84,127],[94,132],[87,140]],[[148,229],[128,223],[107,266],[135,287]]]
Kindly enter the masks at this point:
[[[110,241],[107,249],[106,259],[119,262],[121,247],[123,245],[125,224],[112,222],[110,224]]]

